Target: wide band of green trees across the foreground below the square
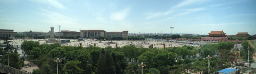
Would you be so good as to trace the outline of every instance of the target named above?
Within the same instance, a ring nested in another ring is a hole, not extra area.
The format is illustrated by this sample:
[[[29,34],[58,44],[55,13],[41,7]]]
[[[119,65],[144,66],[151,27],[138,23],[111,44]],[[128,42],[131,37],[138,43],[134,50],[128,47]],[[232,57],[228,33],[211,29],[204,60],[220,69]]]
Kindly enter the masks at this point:
[[[140,45],[102,49],[93,46],[83,48],[61,47],[59,44],[39,45],[33,41],[24,41],[22,45],[24,51],[30,54],[32,59],[37,59],[36,63],[39,69],[33,71],[35,74],[56,73],[57,64],[53,60],[57,58],[62,60],[59,63],[59,73],[62,74],[139,74],[141,69],[138,64],[141,62],[147,64],[147,67],[144,67],[144,72],[149,74],[198,72],[205,74],[208,73],[208,59],[204,58],[208,55],[212,57],[220,54],[220,58],[213,57],[210,59],[211,72],[230,67],[239,59],[237,49],[233,49],[234,44],[232,42],[204,44],[200,49],[187,45],[166,49],[143,48]],[[242,45],[241,57],[246,58],[248,55],[243,54],[246,53],[244,48],[250,47],[251,44],[244,41]],[[250,50],[250,55],[254,53],[252,52],[254,50],[255,48]],[[196,56],[198,53],[200,57]],[[128,62],[131,63],[128,64]],[[169,71],[170,69],[175,70]]]

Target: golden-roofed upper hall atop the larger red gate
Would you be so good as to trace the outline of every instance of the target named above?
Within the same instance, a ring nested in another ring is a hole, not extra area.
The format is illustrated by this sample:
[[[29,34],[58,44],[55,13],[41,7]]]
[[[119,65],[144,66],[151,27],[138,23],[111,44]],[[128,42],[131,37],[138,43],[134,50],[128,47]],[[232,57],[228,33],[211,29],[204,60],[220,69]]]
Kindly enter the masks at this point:
[[[221,31],[211,31],[208,33],[208,37],[227,37],[226,33],[224,33],[222,30]]]

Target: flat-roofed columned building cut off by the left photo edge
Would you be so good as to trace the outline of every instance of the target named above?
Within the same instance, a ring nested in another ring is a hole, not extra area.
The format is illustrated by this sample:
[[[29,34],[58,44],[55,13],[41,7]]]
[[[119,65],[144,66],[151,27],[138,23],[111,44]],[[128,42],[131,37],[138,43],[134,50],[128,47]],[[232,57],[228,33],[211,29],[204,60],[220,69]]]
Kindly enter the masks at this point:
[[[0,37],[14,37],[16,32],[14,30],[0,29]]]

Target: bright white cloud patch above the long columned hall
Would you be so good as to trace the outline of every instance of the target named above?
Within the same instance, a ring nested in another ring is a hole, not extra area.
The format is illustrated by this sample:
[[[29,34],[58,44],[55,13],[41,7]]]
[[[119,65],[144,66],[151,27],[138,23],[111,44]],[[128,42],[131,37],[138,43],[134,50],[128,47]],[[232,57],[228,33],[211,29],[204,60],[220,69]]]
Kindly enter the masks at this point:
[[[120,12],[111,13],[110,19],[115,21],[123,21],[124,18],[128,15],[130,8],[126,8]]]

